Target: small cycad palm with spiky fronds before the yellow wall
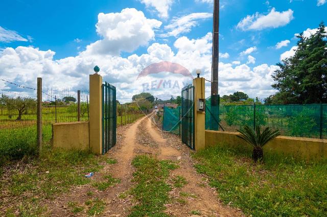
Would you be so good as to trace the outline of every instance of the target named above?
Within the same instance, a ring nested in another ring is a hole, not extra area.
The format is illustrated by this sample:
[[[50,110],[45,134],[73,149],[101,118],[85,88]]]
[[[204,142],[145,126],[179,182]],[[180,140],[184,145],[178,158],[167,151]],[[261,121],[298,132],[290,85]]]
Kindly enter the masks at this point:
[[[275,138],[276,136],[281,135],[279,130],[272,131],[267,127],[262,133],[260,132],[260,127],[257,126],[255,131],[249,126],[245,126],[243,129],[238,130],[241,135],[238,135],[239,138],[245,140],[253,147],[252,158],[256,162],[262,160],[263,158],[263,147],[267,144],[268,141]]]

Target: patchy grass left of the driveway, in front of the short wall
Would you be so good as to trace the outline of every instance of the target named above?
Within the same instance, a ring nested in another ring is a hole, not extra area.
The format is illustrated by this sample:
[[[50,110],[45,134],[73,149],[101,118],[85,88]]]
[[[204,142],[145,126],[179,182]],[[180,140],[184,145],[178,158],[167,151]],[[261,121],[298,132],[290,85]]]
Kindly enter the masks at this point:
[[[10,173],[7,172],[9,178],[0,180],[0,188],[6,192],[6,202],[0,203],[0,210],[9,208],[8,216],[10,207],[18,210],[20,216],[39,216],[44,211],[40,201],[55,199],[73,185],[90,183],[85,173],[99,171],[104,161],[104,157],[84,151],[44,147],[38,157],[25,158],[18,167],[5,167],[5,173],[6,170]]]

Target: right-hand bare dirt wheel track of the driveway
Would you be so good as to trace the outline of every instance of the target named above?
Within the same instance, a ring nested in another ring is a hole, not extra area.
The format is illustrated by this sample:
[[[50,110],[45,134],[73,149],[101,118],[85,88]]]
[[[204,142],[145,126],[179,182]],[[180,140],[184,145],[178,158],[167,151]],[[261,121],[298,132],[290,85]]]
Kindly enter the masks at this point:
[[[193,160],[190,156],[192,151],[181,144],[178,136],[162,133],[152,124],[151,119],[148,120],[147,129],[151,137],[159,145],[159,158],[171,160],[181,159],[179,162],[180,167],[172,172],[172,178],[182,176],[188,181],[188,184],[182,187],[182,189],[173,189],[171,196],[180,198],[179,191],[196,196],[196,198],[185,198],[188,201],[185,205],[179,203],[168,205],[168,213],[174,216],[184,217],[192,216],[190,214],[191,211],[198,210],[201,212],[199,216],[243,216],[240,211],[221,205],[215,189],[209,188],[205,181],[202,181],[203,177],[196,173],[193,167]],[[169,137],[170,139],[164,137]]]

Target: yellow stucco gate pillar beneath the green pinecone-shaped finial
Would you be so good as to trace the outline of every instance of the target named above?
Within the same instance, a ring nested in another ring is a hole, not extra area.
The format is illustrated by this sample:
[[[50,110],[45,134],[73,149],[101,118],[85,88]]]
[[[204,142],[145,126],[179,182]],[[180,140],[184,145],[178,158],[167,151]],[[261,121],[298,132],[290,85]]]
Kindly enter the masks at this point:
[[[102,76],[90,75],[90,152],[102,154]]]

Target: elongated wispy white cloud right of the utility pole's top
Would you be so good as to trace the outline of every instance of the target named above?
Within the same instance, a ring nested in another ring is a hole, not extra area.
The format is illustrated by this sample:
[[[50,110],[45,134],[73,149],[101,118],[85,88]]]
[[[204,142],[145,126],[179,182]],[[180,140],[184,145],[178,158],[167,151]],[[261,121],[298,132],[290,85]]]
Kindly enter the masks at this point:
[[[243,31],[278,28],[286,26],[292,19],[294,17],[291,9],[278,12],[275,8],[272,8],[267,15],[260,14],[259,12],[247,15],[238,23],[237,27]]]

